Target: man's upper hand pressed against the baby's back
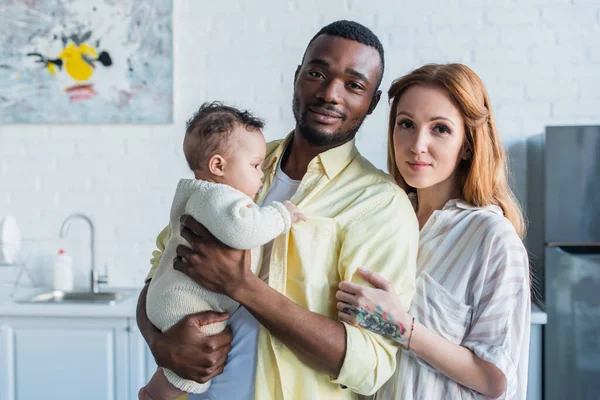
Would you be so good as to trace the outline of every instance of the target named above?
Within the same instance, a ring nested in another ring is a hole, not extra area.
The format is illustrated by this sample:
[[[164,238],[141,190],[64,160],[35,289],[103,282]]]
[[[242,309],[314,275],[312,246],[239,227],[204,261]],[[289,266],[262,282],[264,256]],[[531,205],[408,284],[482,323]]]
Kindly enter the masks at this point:
[[[237,300],[236,293],[246,283],[250,272],[250,251],[236,250],[219,242],[198,221],[181,217],[181,236],[188,241],[177,247],[173,267],[207,290],[223,293]]]

